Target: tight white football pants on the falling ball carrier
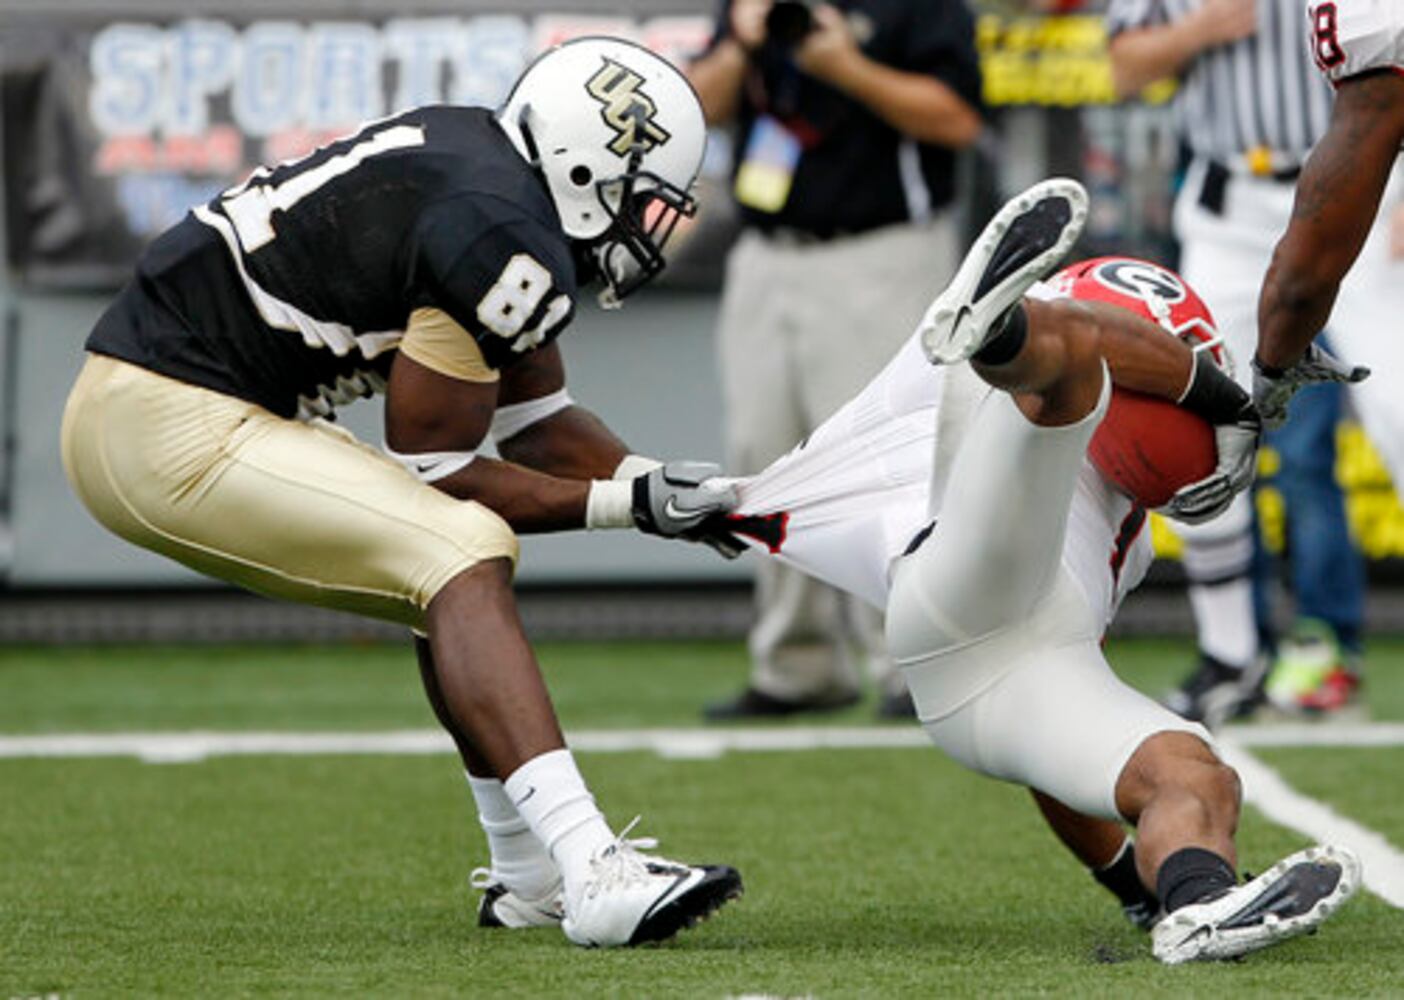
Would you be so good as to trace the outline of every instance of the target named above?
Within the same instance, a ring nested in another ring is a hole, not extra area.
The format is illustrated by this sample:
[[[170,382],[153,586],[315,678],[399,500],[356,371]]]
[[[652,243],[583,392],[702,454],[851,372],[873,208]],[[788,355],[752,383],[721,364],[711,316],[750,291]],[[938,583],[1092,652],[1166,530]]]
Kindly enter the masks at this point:
[[[1158,732],[1207,733],[1125,685],[1064,565],[1082,456],[1106,413],[1036,427],[984,397],[936,527],[897,563],[887,640],[932,742],[969,768],[1120,819],[1116,781]]]

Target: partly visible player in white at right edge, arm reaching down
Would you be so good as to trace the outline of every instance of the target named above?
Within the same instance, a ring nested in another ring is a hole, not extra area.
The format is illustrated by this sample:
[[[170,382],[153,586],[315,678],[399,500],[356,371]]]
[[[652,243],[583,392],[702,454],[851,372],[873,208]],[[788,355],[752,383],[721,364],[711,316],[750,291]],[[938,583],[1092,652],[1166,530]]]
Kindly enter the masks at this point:
[[[1252,395],[1269,426],[1286,419],[1287,402],[1303,385],[1359,382],[1369,374],[1337,362],[1311,338],[1325,326],[1341,281],[1366,246],[1404,143],[1404,3],[1323,0],[1309,6],[1307,18],[1311,51],[1335,87],[1335,104],[1331,126],[1297,178],[1292,223],[1272,254],[1258,301]],[[1393,331],[1380,336],[1404,344]],[[1397,406],[1396,393],[1389,412]],[[1391,424],[1373,437],[1398,480],[1404,413]]]

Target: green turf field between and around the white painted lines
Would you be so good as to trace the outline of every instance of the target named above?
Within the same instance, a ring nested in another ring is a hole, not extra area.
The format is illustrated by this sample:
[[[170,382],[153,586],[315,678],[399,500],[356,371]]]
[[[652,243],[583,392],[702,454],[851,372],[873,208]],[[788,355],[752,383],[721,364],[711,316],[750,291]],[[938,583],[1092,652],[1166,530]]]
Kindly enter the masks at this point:
[[[1184,646],[1122,642],[1165,687]],[[691,726],[734,643],[549,645],[567,729]],[[1404,642],[1369,711],[1404,719]],[[869,725],[870,706],[834,716]],[[0,650],[0,735],[427,729],[407,647]],[[892,725],[892,723],[887,723]],[[1404,846],[1404,747],[1275,749],[1294,788]],[[747,895],[654,949],[475,926],[480,834],[453,757],[0,758],[0,1000],[105,996],[1404,996],[1404,913],[1163,968],[1019,789],[935,750],[581,754],[616,826],[737,865]],[[1244,867],[1304,844],[1251,809]]]

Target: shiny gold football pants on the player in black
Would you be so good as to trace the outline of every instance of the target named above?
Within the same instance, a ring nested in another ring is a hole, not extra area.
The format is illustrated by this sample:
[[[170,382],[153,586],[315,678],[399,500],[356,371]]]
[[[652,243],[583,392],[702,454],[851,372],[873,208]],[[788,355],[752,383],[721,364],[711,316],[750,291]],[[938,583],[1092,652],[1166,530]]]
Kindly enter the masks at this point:
[[[497,514],[348,431],[125,361],[88,357],[62,441],[69,482],[107,528],[271,597],[423,628],[458,573],[517,559]]]

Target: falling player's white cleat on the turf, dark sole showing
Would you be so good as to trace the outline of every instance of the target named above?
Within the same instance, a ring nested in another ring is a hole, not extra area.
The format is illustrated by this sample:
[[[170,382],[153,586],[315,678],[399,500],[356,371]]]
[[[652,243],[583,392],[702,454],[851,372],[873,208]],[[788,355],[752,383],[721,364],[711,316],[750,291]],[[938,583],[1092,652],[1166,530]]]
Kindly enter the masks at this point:
[[[1309,847],[1219,899],[1167,914],[1151,951],[1167,965],[1237,958],[1316,930],[1360,888],[1360,860],[1345,847]]]

